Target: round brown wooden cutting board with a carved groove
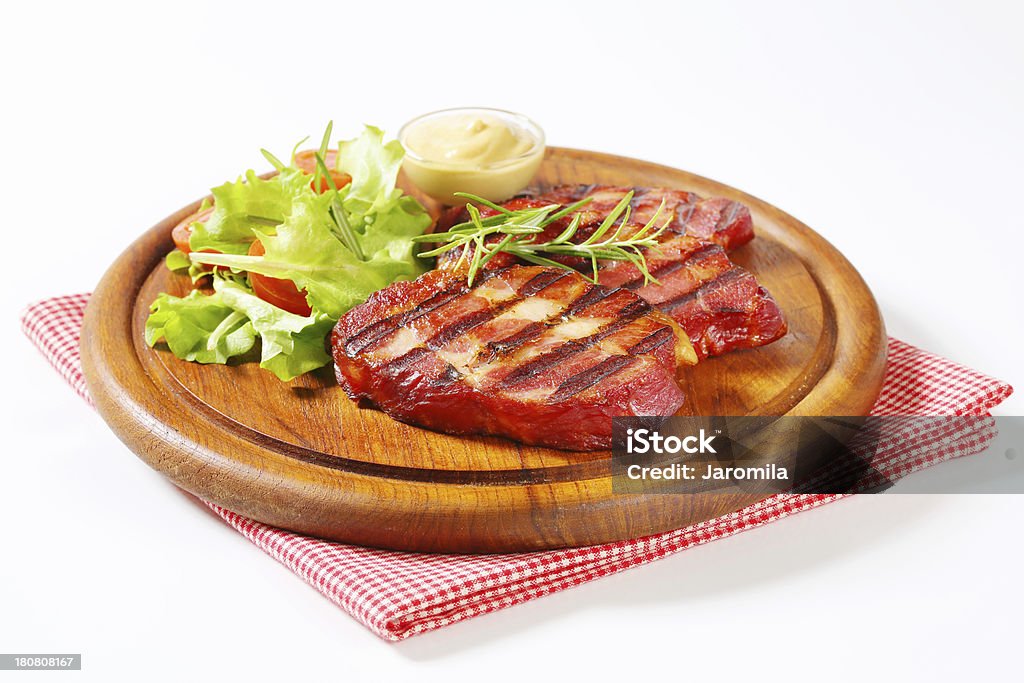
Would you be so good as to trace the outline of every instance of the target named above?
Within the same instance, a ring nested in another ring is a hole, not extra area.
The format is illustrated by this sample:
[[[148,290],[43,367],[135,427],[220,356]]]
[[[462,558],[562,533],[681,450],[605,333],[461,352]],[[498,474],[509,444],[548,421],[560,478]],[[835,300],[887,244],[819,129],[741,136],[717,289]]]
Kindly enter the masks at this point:
[[[792,216],[727,185],[622,157],[550,148],[537,179],[670,186],[750,207],[757,239],[731,256],[775,297],[788,334],[684,372],[689,415],[866,415],[886,336],[852,265]],[[435,552],[582,546],[679,528],[764,494],[616,494],[610,453],[457,437],[357,408],[325,368],[292,383],[256,362],[201,366],[142,339],[185,207],[111,266],[86,311],[89,391],[118,436],[176,484],[253,519],[354,544]]]

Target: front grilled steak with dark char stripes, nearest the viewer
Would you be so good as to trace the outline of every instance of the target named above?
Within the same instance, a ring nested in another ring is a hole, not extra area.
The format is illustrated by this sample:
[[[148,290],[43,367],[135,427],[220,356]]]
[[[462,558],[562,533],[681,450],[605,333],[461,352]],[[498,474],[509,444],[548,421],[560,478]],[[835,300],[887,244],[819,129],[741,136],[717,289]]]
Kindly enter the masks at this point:
[[[579,273],[513,265],[432,270],[373,294],[334,329],[338,381],[353,399],[454,434],[589,451],[611,418],[676,413],[696,355],[668,315]]]

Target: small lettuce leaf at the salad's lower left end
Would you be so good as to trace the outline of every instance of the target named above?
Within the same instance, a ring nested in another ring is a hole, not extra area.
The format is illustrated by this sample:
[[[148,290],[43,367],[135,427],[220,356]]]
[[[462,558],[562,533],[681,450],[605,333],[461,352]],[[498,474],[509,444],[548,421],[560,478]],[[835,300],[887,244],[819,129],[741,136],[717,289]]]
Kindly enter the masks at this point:
[[[145,343],[167,341],[179,358],[197,362],[227,362],[246,353],[256,341],[249,318],[217,296],[199,291],[184,298],[161,294],[150,307]]]

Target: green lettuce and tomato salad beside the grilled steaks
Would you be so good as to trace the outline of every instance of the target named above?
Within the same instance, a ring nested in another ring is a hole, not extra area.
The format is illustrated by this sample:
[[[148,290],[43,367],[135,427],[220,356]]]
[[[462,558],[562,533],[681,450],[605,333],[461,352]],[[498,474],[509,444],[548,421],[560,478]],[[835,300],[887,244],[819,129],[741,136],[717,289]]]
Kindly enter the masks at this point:
[[[413,240],[431,219],[395,186],[401,144],[367,126],[330,150],[332,129],[311,159],[302,142],[289,164],[261,151],[272,177],[250,170],[214,187],[184,237],[175,230],[168,267],[210,278],[212,292],[161,294],[146,343],[225,364],[259,340],[260,367],[288,381],[330,362],[326,338],[345,311],[426,269]]]

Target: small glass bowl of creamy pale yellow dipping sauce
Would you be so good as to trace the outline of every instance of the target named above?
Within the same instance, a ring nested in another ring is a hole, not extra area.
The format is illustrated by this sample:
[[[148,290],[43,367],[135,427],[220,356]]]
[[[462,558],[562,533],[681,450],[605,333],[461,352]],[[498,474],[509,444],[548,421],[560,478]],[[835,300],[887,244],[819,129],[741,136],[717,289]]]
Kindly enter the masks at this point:
[[[544,159],[544,131],[521,114],[483,108],[443,110],[398,131],[410,180],[442,204],[470,193],[492,202],[529,184]]]

